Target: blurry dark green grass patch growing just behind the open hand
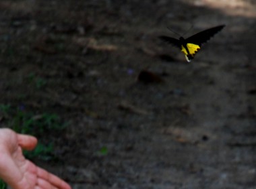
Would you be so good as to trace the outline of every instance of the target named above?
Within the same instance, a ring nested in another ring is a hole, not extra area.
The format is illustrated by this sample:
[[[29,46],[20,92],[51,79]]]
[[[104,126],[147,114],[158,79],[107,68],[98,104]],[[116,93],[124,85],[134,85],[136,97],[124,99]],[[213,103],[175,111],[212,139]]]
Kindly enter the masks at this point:
[[[35,135],[42,139],[47,133],[59,132],[67,127],[56,114],[35,114],[26,111],[24,106],[13,108],[10,105],[0,105],[0,117],[17,133]],[[24,151],[24,154],[29,159],[38,157],[40,160],[48,161],[55,159],[53,151],[54,143],[39,142],[33,151]]]

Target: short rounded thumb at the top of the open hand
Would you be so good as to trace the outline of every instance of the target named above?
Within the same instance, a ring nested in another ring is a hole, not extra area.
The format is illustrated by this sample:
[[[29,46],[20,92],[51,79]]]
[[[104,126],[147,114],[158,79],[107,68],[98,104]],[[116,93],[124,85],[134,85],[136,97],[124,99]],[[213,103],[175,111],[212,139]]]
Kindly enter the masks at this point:
[[[37,139],[36,137],[30,135],[22,135],[17,134],[18,144],[22,147],[22,149],[32,150],[36,147]]]

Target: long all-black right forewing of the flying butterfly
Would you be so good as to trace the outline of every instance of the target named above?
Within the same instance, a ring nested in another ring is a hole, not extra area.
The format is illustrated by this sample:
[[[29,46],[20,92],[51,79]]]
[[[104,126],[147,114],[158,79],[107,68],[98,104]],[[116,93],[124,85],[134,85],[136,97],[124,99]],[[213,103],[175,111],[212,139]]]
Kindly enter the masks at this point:
[[[201,44],[206,43],[212,36],[218,33],[218,31],[222,30],[225,25],[218,25],[216,27],[212,27],[210,29],[205,29],[189,38],[186,39],[187,43],[197,44],[201,46]]]

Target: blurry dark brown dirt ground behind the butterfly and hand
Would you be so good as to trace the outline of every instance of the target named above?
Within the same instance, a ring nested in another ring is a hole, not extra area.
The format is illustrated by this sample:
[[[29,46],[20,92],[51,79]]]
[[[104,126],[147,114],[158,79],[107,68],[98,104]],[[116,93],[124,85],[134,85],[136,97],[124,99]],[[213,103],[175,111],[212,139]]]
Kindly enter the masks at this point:
[[[75,189],[256,188],[255,10],[253,0],[1,0],[0,103],[69,122],[39,138],[55,136],[59,161],[34,162]],[[220,24],[191,63],[158,39]]]

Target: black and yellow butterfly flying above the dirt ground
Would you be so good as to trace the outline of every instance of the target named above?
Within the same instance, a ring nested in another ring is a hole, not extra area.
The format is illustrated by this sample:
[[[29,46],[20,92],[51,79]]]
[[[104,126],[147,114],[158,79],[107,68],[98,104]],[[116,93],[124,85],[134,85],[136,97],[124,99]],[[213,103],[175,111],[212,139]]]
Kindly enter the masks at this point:
[[[222,30],[225,25],[218,25],[210,29],[205,29],[187,39],[180,37],[179,40],[175,38],[170,38],[167,36],[160,36],[159,38],[174,45],[181,49],[181,52],[185,54],[187,62],[190,62],[195,53],[201,48],[201,44],[206,43],[212,36],[214,36],[218,31]]]

